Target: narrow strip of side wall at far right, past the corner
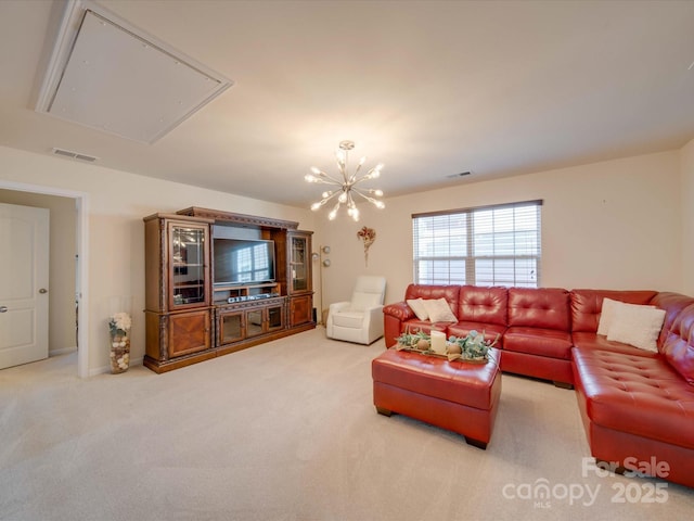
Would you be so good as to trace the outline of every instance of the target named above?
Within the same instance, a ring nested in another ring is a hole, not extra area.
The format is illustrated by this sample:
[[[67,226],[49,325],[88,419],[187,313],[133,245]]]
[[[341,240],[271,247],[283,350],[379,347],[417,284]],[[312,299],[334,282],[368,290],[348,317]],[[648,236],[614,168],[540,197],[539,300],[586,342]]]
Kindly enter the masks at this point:
[[[682,174],[682,292],[694,295],[694,139],[680,151]]]

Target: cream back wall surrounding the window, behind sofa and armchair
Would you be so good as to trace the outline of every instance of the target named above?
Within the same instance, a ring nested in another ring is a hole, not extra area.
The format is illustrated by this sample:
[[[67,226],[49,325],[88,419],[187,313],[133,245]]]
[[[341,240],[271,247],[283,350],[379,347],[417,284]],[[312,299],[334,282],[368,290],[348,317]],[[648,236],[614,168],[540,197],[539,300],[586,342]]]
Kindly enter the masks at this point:
[[[385,275],[386,302],[402,300],[412,281],[413,213],[536,199],[544,201],[541,285],[683,292],[680,179],[673,151],[391,198],[384,211],[361,205],[358,224],[322,213],[318,231],[332,247],[323,307],[348,300],[359,274]],[[362,226],[377,234],[368,267]]]

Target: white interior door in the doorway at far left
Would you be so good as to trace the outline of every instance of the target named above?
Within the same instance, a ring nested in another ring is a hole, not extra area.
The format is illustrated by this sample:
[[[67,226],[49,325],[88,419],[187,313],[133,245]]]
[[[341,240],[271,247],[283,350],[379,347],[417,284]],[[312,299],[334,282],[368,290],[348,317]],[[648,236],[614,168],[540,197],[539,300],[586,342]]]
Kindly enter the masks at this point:
[[[0,369],[48,358],[49,211],[0,204]]]

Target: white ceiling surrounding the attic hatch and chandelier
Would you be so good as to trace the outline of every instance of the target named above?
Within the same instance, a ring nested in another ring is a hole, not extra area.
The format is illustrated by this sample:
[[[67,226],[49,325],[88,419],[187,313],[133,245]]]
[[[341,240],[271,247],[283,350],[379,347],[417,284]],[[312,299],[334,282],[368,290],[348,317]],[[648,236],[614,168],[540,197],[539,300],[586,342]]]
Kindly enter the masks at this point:
[[[387,202],[694,138],[694,1],[99,4],[233,87],[154,144],[36,113],[53,2],[0,0],[0,144],[308,206],[345,139]]]

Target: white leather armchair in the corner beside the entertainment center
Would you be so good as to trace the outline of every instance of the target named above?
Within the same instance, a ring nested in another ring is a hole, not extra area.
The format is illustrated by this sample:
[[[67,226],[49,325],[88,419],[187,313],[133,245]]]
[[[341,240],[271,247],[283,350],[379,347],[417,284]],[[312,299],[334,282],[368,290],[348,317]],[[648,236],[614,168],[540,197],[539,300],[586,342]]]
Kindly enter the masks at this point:
[[[330,305],[325,323],[327,338],[369,345],[383,336],[385,294],[385,277],[358,277],[351,301]]]

